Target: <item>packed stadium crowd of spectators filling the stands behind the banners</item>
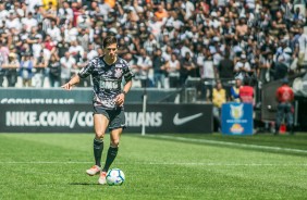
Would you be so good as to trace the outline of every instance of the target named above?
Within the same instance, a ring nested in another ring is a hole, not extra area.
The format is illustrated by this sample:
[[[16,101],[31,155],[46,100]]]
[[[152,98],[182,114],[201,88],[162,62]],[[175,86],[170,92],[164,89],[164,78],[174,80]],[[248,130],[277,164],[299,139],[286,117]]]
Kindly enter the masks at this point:
[[[0,86],[59,87],[118,37],[133,87],[266,84],[304,71],[306,1],[2,0]],[[79,86],[87,87],[90,79]]]

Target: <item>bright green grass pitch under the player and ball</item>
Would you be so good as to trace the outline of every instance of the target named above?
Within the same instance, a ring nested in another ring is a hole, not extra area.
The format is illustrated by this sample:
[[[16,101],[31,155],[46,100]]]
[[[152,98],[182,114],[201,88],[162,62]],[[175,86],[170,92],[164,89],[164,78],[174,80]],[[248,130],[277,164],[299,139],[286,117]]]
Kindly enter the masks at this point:
[[[307,199],[307,134],[123,134],[112,167],[126,180],[112,187],[85,174],[93,138],[0,134],[0,199]]]

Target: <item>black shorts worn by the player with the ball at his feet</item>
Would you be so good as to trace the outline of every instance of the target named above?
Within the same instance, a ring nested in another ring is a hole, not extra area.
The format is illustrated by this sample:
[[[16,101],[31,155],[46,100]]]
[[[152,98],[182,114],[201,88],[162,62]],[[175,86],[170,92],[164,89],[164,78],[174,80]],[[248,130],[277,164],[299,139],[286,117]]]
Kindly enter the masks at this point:
[[[109,130],[126,127],[124,110],[106,110],[101,107],[94,107],[94,114],[103,114],[109,120]]]

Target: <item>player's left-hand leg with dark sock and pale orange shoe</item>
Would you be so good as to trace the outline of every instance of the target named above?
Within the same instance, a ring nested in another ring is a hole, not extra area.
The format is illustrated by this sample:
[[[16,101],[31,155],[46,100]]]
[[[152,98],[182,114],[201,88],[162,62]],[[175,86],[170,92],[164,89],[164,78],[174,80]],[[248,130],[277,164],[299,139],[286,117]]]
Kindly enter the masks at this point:
[[[101,154],[103,150],[103,137],[108,124],[109,124],[109,120],[106,115],[94,114],[95,138],[94,138],[93,147],[94,147],[95,165],[86,171],[86,173],[90,176],[99,174],[101,171]]]

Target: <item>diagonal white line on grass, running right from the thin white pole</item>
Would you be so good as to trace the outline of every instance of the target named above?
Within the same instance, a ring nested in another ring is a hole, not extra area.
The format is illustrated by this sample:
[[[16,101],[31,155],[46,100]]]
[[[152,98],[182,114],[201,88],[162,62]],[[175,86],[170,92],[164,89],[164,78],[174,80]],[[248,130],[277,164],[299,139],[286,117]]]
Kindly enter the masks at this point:
[[[267,150],[275,150],[275,151],[307,153],[307,150],[302,150],[302,149],[271,147],[271,146],[258,146],[258,145],[250,145],[250,143],[236,143],[236,142],[231,142],[231,141],[216,141],[216,140],[209,140],[209,139],[194,139],[194,138],[163,136],[163,135],[151,135],[151,134],[146,135],[146,137],[165,138],[165,139],[172,139],[172,140],[179,140],[179,141],[193,141],[193,142],[198,142],[198,143],[211,143],[211,145],[225,145],[225,146],[233,146],[233,147],[245,147],[245,148],[251,148],[251,149],[267,149]]]

